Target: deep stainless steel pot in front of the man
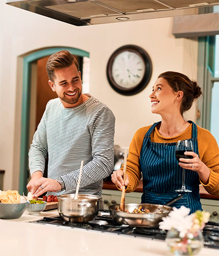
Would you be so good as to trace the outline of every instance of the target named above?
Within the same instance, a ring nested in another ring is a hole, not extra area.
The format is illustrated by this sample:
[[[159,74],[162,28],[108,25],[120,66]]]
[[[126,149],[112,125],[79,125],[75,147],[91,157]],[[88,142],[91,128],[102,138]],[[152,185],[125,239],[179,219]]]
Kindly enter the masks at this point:
[[[100,197],[93,195],[64,194],[58,197],[59,215],[66,221],[87,222],[93,220],[99,211]]]

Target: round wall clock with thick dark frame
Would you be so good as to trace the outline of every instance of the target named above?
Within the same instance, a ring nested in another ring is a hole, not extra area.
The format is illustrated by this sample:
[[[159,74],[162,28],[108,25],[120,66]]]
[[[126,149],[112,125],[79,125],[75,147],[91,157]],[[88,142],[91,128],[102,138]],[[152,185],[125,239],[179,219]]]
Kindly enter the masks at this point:
[[[139,46],[124,45],[109,57],[107,78],[117,93],[134,95],[141,92],[149,83],[151,74],[151,59]]]

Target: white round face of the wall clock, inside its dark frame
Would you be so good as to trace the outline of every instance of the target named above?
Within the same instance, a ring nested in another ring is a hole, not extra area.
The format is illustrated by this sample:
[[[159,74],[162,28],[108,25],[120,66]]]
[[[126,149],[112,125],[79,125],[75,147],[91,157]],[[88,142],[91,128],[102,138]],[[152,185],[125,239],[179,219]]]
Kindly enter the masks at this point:
[[[112,63],[112,78],[123,88],[133,88],[138,85],[145,73],[142,57],[133,51],[118,53]]]

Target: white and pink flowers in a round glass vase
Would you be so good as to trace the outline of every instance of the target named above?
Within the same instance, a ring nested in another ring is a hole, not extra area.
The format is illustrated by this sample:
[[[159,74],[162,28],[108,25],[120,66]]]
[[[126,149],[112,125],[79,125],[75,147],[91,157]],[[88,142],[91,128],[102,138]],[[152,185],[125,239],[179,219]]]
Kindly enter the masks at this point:
[[[173,211],[159,223],[160,229],[168,230],[166,242],[169,250],[177,255],[196,255],[203,246],[201,230],[209,221],[210,213],[189,213],[190,209],[185,206],[173,207]]]

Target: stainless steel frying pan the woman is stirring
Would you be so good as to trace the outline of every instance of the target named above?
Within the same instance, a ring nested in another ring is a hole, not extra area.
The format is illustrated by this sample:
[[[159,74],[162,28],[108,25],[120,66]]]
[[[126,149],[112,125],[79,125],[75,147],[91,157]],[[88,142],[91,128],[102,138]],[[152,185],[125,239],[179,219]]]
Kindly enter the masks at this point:
[[[114,219],[114,221],[116,221],[119,224],[125,224],[135,227],[156,227],[158,226],[158,223],[162,220],[162,218],[166,217],[170,213],[170,211],[172,211],[172,207],[170,207],[169,205],[178,201],[182,197],[183,195],[179,194],[178,196],[174,197],[169,202],[167,202],[166,205],[125,204],[125,210],[128,210],[129,213],[117,210],[120,209],[119,204],[110,205],[109,213]],[[140,206],[143,209],[148,209],[150,213],[131,213],[135,208],[139,208]]]

